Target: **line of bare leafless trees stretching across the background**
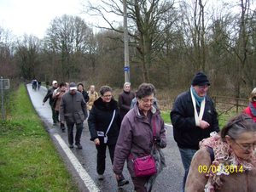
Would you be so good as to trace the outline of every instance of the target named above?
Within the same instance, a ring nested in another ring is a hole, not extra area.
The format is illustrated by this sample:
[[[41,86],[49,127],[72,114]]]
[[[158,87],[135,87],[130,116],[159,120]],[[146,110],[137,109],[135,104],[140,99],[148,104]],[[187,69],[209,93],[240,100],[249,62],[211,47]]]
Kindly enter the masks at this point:
[[[51,20],[43,39],[15,37],[0,27],[0,75],[42,82],[124,84],[123,0],[90,1],[84,14],[101,16],[98,31],[79,16]],[[236,3],[235,3],[236,2]],[[212,92],[247,97],[255,87],[256,11],[251,0],[127,0],[131,83],[189,88],[205,72]]]

